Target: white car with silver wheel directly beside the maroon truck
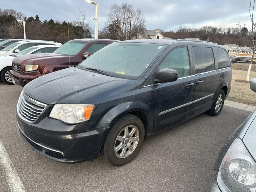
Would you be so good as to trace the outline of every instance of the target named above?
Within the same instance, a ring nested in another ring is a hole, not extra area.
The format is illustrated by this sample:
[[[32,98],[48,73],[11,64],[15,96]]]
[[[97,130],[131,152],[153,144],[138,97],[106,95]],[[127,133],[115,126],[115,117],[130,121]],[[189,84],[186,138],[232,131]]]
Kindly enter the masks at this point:
[[[38,53],[52,53],[60,47],[56,45],[37,45],[29,47],[14,55],[0,56],[0,77],[6,84],[13,84],[10,78],[10,71],[12,70],[12,60],[20,55],[38,54]]]

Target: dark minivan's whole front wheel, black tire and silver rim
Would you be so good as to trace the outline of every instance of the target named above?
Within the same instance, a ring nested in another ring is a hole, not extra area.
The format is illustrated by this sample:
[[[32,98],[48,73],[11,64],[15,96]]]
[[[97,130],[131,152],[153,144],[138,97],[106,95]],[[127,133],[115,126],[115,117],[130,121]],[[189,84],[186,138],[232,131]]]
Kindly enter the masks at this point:
[[[129,163],[139,153],[144,136],[144,125],[137,116],[132,114],[121,116],[106,135],[101,149],[103,158],[114,166]]]

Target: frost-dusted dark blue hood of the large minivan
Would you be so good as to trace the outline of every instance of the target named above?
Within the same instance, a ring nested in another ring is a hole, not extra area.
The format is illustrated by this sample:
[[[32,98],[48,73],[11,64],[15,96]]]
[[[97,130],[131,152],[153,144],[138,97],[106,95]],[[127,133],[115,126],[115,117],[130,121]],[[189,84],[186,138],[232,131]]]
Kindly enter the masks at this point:
[[[23,91],[31,98],[46,104],[77,104],[107,90],[123,86],[129,81],[70,67],[34,79]]]

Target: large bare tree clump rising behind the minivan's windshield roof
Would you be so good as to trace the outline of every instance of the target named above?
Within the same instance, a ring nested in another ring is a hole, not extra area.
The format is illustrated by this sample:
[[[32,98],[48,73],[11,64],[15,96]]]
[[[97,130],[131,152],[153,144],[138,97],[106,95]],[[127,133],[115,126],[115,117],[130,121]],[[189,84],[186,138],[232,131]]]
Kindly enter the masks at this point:
[[[112,4],[108,16],[106,25],[110,26],[118,21],[109,30],[116,33],[120,40],[137,38],[146,30],[146,21],[142,11],[140,9],[134,10],[131,4]]]

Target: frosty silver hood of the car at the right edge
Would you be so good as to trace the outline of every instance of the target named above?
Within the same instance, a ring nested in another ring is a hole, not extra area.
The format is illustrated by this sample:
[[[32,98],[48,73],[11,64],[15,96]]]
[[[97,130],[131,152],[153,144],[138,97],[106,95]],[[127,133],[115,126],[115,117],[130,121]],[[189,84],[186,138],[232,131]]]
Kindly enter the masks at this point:
[[[254,120],[243,137],[243,143],[256,160],[256,110],[252,113]]]

